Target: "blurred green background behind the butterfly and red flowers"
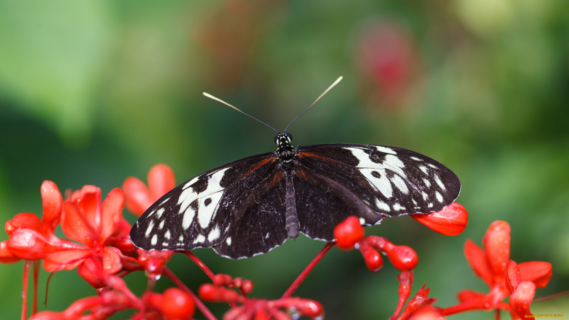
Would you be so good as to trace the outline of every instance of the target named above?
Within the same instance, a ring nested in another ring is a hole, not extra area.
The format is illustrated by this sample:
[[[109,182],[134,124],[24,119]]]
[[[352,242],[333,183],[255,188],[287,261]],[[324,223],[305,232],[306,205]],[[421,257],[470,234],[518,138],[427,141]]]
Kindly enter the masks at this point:
[[[405,147],[463,183],[457,201],[470,221],[459,236],[407,216],[366,228],[418,252],[414,292],[428,282],[439,306],[455,304],[460,289],[487,292],[462,247],[480,244],[497,219],[512,225],[512,259],[552,262],[537,296],[566,290],[568,44],[565,0],[1,1],[0,218],[40,215],[46,179],[106,194],[129,175],[146,180],[155,163],[182,183],[274,150],[274,132],[201,92],[283,129],[342,75],[291,126],[293,143]],[[300,237],[239,261],[195,253],[215,273],[253,280],[253,296],[278,298],[323,246]],[[194,290],[208,281],[187,257],[169,266]],[[19,317],[21,274],[22,262],[0,265],[0,319]],[[327,319],[386,319],[396,274],[387,261],[373,274],[358,252],[334,248],[296,294],[321,301]],[[142,273],[127,281],[137,294],[146,286]],[[48,308],[94,293],[75,270],[58,272]],[[568,305],[532,310],[569,315]],[[218,317],[228,309],[211,307]]]

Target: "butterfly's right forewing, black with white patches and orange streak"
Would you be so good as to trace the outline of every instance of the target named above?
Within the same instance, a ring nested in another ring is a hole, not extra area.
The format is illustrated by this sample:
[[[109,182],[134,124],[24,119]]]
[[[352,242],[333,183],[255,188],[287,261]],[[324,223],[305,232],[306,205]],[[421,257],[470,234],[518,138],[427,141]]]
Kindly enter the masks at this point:
[[[439,211],[460,192],[447,167],[398,147],[331,143],[299,147],[297,157],[299,166],[343,184],[386,216]]]

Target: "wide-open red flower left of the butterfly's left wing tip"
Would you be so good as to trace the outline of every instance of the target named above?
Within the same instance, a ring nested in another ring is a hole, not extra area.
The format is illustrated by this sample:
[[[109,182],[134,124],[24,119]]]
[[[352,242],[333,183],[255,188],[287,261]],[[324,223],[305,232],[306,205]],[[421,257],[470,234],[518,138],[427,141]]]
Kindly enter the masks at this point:
[[[70,239],[86,247],[51,253],[43,261],[44,269],[48,272],[71,270],[86,263],[77,272],[92,286],[100,288],[101,271],[113,274],[122,268],[120,251],[106,247],[106,242],[122,218],[124,204],[125,195],[120,188],[111,190],[102,204],[100,188],[84,186],[73,192],[71,199],[63,202],[61,229]]]

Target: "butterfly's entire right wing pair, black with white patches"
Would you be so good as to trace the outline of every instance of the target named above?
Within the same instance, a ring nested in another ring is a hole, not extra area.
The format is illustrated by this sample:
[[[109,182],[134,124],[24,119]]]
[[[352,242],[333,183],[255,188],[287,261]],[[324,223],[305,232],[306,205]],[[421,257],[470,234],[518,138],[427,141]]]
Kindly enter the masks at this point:
[[[339,216],[355,214],[370,225],[383,215],[439,211],[458,197],[460,181],[450,169],[415,151],[330,143],[298,147],[295,191],[301,231],[332,240]]]

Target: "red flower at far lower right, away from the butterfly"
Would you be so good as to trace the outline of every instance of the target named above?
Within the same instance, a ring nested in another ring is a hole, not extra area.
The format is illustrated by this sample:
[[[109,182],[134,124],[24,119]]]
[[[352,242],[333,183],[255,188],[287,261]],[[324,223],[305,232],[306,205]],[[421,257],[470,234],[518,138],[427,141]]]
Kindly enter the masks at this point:
[[[530,281],[537,288],[544,287],[549,282],[552,274],[551,264],[549,262],[522,262],[522,264],[519,264],[518,269],[514,268],[512,264],[510,264],[509,268],[506,268],[506,262],[510,259],[510,225],[506,221],[498,220],[490,224],[482,242],[484,244],[484,250],[473,243],[473,241],[467,240],[464,244],[464,255],[468,263],[472,266],[475,274],[482,278],[484,282],[486,282],[486,285],[489,286],[490,292],[484,294],[473,290],[462,290],[457,295],[461,303],[443,309],[444,315],[473,309],[505,309],[512,311],[513,308],[510,310],[510,306],[512,305],[511,298],[510,305],[502,302],[502,300],[508,297],[510,293],[517,288],[519,282]],[[519,278],[514,277],[514,273],[517,273]],[[509,274],[508,278],[506,278],[507,274]],[[524,289],[520,289],[523,293],[519,293],[517,296],[527,298],[528,286],[524,286]],[[531,298],[533,298],[533,296],[531,296]],[[514,301],[518,301],[517,299],[517,297],[514,297]],[[531,301],[531,299],[529,301]],[[529,312],[529,303],[527,304],[527,308]]]

